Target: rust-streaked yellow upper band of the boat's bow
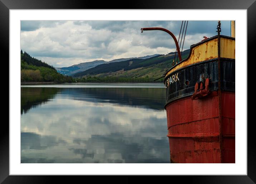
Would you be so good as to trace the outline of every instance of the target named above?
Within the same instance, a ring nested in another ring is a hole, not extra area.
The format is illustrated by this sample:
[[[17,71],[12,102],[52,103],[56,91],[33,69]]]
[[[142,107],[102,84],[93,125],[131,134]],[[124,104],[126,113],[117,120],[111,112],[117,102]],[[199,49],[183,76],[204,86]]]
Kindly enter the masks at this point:
[[[221,37],[220,43],[220,57],[235,59],[235,40]],[[218,39],[212,39],[192,47],[190,52],[191,53],[188,58],[173,66],[173,68],[168,71],[165,76],[168,76],[172,72],[188,65],[218,58]]]

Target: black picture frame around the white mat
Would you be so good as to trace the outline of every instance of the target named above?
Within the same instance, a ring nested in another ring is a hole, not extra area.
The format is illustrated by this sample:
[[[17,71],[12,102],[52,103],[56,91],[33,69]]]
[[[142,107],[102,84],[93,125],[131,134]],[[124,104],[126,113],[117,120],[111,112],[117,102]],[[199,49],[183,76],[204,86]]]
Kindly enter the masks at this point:
[[[123,6],[122,6],[123,5]],[[1,55],[5,56],[5,61],[9,61],[9,10],[10,9],[246,9],[247,10],[247,58],[248,61],[255,62],[253,55],[255,53],[255,32],[256,32],[256,1],[255,0],[136,0],[136,1],[72,1],[72,0],[0,0],[0,47]],[[243,64],[246,63],[246,57]],[[7,64],[7,62],[6,62]],[[6,66],[9,69],[9,65]],[[253,67],[247,67],[247,95],[254,94],[253,85]],[[9,71],[9,70],[8,70]],[[6,78],[6,77],[5,77]],[[9,80],[8,80],[9,84]],[[247,97],[248,98],[248,97]],[[250,98],[253,99],[253,98]],[[162,179],[178,179],[179,182],[187,181],[189,183],[255,183],[256,182],[256,152],[255,137],[252,121],[254,100],[247,103],[247,175],[220,175],[220,176],[168,176]],[[251,107],[251,108],[250,108]],[[7,108],[6,108],[7,109]],[[9,109],[9,108],[8,108]],[[250,116],[249,116],[250,115]],[[238,122],[246,123],[246,122]],[[169,178],[172,177],[172,178]],[[9,175],[9,124],[7,121],[1,122],[0,129],[0,182],[3,183],[53,183],[52,179],[64,180],[74,183],[74,177],[68,176],[10,176]],[[104,177],[105,178],[105,177]],[[81,177],[76,177],[81,179]],[[162,180],[161,179],[161,180]],[[105,179],[104,179],[105,180]],[[109,180],[109,177],[108,177]],[[133,182],[133,176],[126,176],[123,182]],[[151,180],[147,177],[143,183]],[[111,177],[111,182],[120,181]],[[121,182],[121,181],[120,181]],[[122,183],[123,183],[122,182]]]

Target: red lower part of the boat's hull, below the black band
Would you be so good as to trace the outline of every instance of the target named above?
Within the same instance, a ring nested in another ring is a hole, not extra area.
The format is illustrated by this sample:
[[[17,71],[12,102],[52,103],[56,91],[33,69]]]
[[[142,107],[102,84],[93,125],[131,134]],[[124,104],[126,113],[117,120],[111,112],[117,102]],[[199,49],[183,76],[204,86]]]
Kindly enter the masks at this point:
[[[182,98],[166,111],[172,163],[235,163],[235,92]]]

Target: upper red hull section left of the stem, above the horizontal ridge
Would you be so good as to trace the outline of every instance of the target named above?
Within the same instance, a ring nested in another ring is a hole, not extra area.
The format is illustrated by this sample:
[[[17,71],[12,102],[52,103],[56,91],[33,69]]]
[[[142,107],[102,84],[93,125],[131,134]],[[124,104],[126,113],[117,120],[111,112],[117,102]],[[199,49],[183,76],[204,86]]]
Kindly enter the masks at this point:
[[[190,97],[170,103],[166,107],[168,133],[217,133],[218,97],[191,100]],[[209,122],[209,119],[211,121]],[[202,123],[202,126],[201,126]],[[210,124],[208,124],[210,123]],[[208,124],[208,125],[207,125]],[[174,128],[174,126],[178,127]],[[197,125],[191,127],[191,125]],[[179,128],[182,128],[179,130]],[[183,129],[184,128],[184,129]],[[217,128],[217,129],[216,129]]]

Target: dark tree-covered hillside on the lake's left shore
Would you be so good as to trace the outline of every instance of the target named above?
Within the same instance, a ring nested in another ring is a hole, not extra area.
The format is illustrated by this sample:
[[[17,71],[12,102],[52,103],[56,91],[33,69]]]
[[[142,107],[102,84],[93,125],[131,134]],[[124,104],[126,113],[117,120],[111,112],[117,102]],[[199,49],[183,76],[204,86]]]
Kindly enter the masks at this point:
[[[74,82],[70,76],[58,73],[55,68],[41,60],[31,57],[21,50],[21,82]]]

